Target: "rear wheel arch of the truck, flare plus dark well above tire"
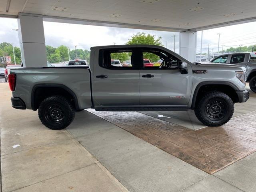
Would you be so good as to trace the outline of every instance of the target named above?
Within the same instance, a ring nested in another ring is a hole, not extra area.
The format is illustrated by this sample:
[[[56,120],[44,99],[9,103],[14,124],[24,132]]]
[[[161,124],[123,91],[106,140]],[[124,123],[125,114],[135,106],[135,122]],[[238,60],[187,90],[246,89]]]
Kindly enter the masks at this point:
[[[52,95],[61,95],[71,100],[76,110],[79,110],[76,94],[63,84],[36,84],[31,91],[31,108],[36,111],[44,98]],[[38,99],[36,99],[38,98]]]

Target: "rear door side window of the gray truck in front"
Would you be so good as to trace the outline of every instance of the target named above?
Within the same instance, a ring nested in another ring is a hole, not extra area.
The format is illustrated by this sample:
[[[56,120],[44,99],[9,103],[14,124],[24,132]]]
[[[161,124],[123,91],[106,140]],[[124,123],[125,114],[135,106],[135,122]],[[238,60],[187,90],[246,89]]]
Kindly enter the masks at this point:
[[[102,49],[99,52],[99,65],[113,70],[134,69],[132,55],[133,50]]]

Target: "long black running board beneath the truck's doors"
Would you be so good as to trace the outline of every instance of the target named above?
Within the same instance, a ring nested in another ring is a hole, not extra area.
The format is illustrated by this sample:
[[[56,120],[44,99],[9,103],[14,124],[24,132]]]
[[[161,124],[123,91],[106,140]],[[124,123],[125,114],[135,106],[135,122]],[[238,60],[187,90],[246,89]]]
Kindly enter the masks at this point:
[[[186,111],[186,107],[131,107],[131,108],[96,108],[96,111]]]

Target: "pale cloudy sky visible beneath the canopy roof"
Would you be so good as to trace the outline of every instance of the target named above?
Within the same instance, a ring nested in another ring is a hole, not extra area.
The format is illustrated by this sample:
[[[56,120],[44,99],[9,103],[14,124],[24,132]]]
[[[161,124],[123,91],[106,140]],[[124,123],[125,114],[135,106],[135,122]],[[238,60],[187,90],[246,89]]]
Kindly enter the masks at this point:
[[[0,43],[9,42],[14,43],[15,46],[19,46],[18,33],[12,29],[17,29],[18,24],[16,19],[0,18]],[[74,45],[77,48],[90,49],[91,46],[98,45],[110,45],[110,44],[125,44],[128,39],[137,32],[145,32],[147,34],[156,35],[156,37],[162,37],[162,43],[167,48],[174,49],[175,37],[175,49],[178,52],[178,35],[176,32],[163,32],[152,30],[137,30],[127,28],[114,28],[104,26],[87,26],[79,24],[65,24],[65,23],[53,23],[44,22],[44,33],[46,45],[60,46],[70,45],[70,49],[74,49]],[[250,44],[256,44],[256,22],[250,22],[240,25],[227,26],[222,28],[216,28],[203,31],[202,52],[208,52],[208,43],[210,43],[210,50],[218,50],[218,35],[220,35],[220,51],[222,45],[224,49],[231,46],[238,47],[240,44],[248,46]],[[198,32],[197,39],[197,52],[200,52],[201,45],[201,32]]]

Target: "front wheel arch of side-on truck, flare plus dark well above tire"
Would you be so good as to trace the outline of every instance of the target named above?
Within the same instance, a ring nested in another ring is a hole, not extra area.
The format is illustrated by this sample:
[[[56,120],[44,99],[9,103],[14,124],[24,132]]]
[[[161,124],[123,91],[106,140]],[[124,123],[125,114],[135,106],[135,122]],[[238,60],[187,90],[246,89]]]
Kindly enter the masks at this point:
[[[215,88],[216,90],[225,92],[228,94],[231,99],[234,102],[238,101],[238,96],[236,94],[236,91],[239,91],[239,89],[232,84],[231,82],[226,82],[226,81],[206,81],[206,82],[201,82],[196,86],[196,89],[193,94],[192,98],[192,104],[191,104],[191,109],[195,108],[196,101],[201,98],[200,92],[208,92],[211,90],[211,88]]]

